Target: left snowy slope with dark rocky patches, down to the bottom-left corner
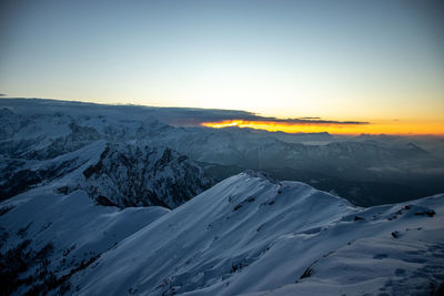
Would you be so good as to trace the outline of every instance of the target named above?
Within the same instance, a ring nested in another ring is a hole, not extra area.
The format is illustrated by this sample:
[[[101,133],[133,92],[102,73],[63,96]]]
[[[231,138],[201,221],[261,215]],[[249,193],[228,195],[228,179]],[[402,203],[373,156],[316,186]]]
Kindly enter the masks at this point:
[[[68,288],[67,279],[72,274],[168,212],[163,207],[120,211],[95,205],[83,191],[54,195],[46,187],[3,202],[0,216],[2,295],[12,293],[8,289],[11,287],[18,287],[17,295]],[[16,273],[20,276],[16,277]]]

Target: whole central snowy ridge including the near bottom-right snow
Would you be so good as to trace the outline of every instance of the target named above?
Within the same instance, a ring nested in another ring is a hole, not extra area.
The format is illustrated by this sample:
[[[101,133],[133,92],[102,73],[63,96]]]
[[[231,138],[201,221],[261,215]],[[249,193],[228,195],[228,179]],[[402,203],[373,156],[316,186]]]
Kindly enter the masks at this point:
[[[245,172],[129,236],[71,283],[80,295],[330,287],[333,295],[361,295],[412,285],[430,293],[443,280],[443,195],[365,210],[302,183]],[[408,282],[418,271],[422,277]]]

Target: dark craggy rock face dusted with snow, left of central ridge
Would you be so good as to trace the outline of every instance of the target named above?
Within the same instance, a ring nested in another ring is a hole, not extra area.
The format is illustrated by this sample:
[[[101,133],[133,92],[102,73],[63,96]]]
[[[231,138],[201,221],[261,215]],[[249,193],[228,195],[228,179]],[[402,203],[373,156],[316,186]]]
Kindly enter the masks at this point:
[[[109,144],[83,171],[82,187],[100,204],[174,208],[213,182],[186,156],[169,147]]]

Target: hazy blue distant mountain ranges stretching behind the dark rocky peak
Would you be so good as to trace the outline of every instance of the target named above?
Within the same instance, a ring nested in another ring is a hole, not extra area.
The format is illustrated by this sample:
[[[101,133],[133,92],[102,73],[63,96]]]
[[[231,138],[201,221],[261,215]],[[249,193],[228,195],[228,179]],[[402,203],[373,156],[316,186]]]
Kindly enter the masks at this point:
[[[204,173],[216,181],[244,170],[264,171],[278,178],[302,181],[319,190],[337,193],[361,206],[395,203],[444,191],[444,160],[436,153],[442,150],[441,139],[430,140],[430,143],[421,140],[417,144],[413,137],[287,134],[168,124],[180,124],[181,120],[186,123],[193,119],[211,120],[221,114],[228,116],[236,112],[0,99],[0,175],[23,171],[17,180],[26,176],[33,186],[42,177],[26,170],[32,166],[32,162],[52,161],[104,141],[111,145],[123,143],[140,149],[170,149],[188,156],[194,166],[203,167]],[[431,147],[434,153],[423,146]],[[122,145],[120,149],[132,153]],[[68,170],[63,169],[65,165],[68,163],[51,169],[53,173],[43,178],[61,176]],[[112,177],[107,176],[108,180]],[[143,177],[137,180],[141,184]],[[195,186],[208,187],[201,185]],[[10,191],[10,184],[0,184],[2,198],[22,192],[21,186],[20,182],[13,185],[12,192],[6,193]],[[112,187],[113,192],[123,190]],[[199,193],[194,190],[189,192]],[[110,202],[120,206],[140,202],[131,203],[130,200],[133,197]],[[142,204],[162,203],[151,201]]]

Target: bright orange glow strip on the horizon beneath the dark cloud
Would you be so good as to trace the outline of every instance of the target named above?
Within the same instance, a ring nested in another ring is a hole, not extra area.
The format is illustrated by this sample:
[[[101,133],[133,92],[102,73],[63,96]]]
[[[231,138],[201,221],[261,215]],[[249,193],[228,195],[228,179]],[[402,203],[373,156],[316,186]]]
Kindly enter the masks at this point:
[[[369,124],[344,124],[323,122],[281,122],[281,121],[244,121],[225,120],[220,122],[203,122],[202,126],[223,129],[229,126],[250,127],[269,132],[285,133],[320,133],[331,134],[398,134],[398,135],[444,135],[444,122],[418,121],[377,121]]]

